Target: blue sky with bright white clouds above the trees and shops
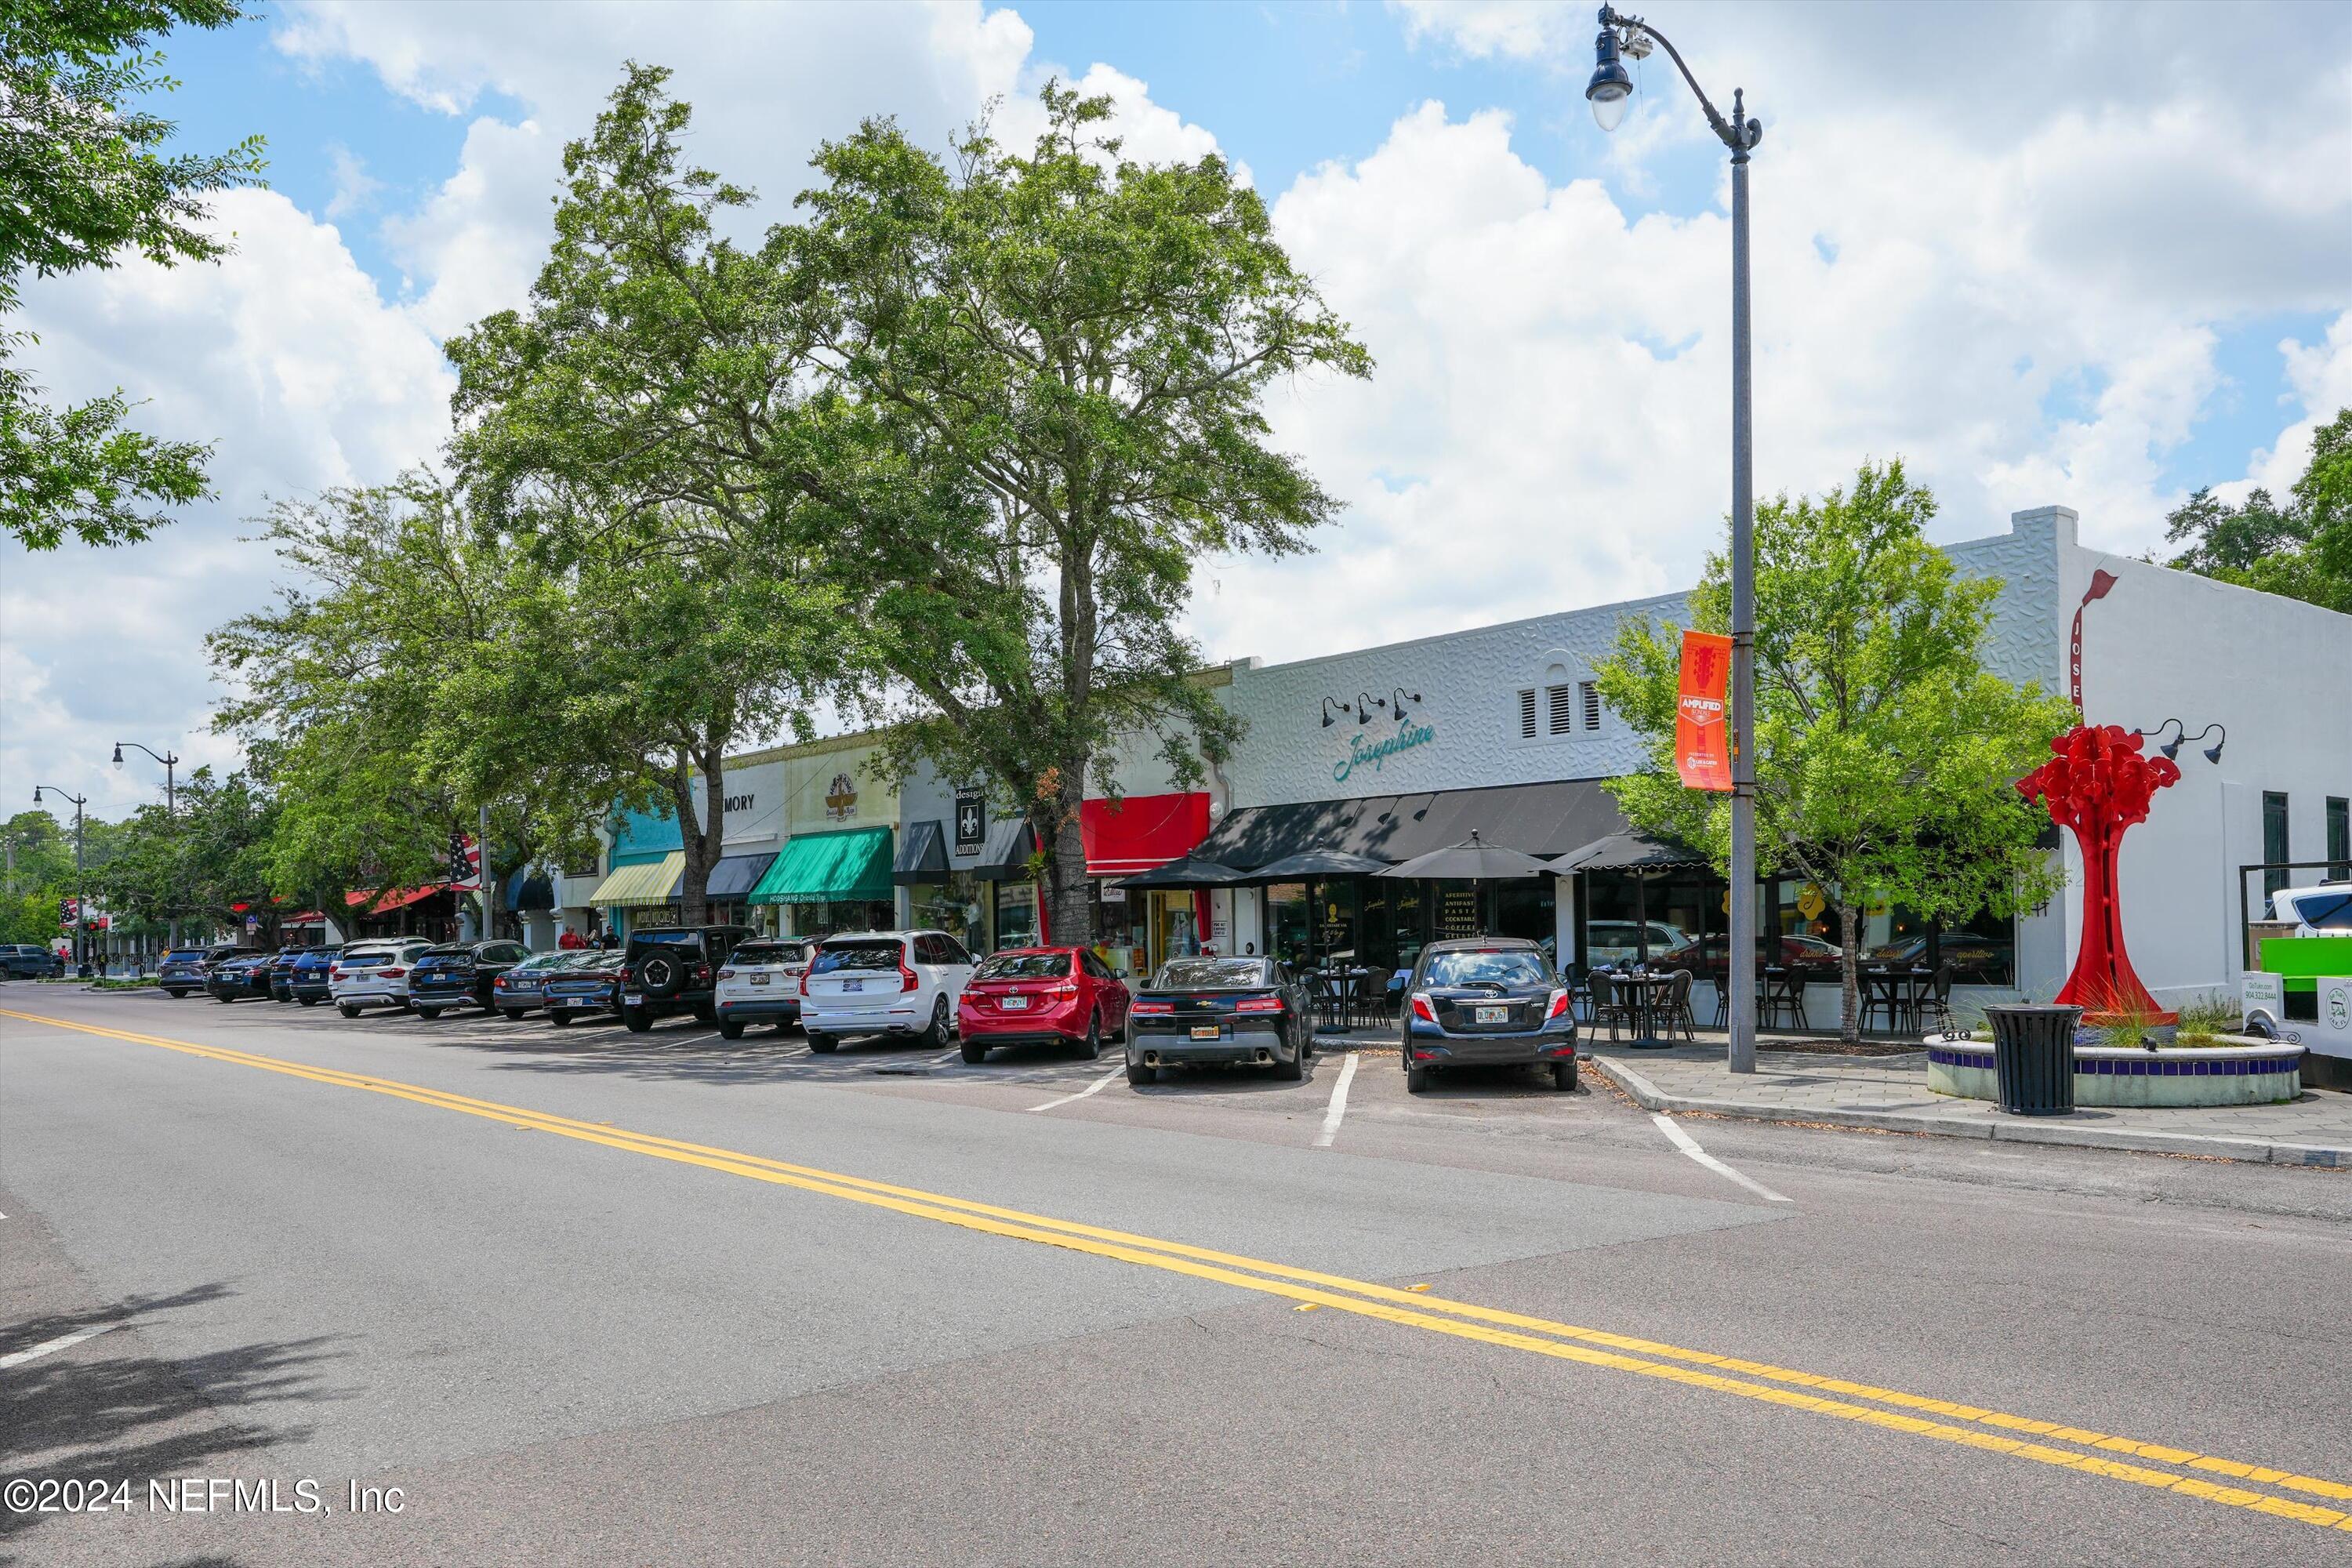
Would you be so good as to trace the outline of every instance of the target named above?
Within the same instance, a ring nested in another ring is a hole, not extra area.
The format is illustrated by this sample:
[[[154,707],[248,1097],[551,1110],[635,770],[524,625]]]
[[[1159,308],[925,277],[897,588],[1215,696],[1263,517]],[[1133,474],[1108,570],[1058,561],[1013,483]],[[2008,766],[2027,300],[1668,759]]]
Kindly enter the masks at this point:
[[[2352,404],[2352,7],[1663,5],[1764,122],[1762,494],[1900,456],[1936,538],[2058,503],[2138,555],[2197,487],[2284,489]],[[216,494],[122,550],[0,543],[0,799],[155,797],[115,741],[235,764],[202,635],[285,581],[254,517],[435,461],[440,343],[524,301],[628,59],[675,71],[757,226],[861,120],[1021,136],[1049,78],[1108,92],[1136,158],[1247,172],[1378,369],[1270,397],[1345,512],[1312,555],[1202,562],[1211,658],[1682,588],[1729,510],[1729,179],[1663,52],[1597,129],[1592,33],[1512,0],[289,0],[174,35],[181,141],[268,139],[268,188],[214,202],[235,254],[28,280],[14,324],[52,397],[216,442]]]

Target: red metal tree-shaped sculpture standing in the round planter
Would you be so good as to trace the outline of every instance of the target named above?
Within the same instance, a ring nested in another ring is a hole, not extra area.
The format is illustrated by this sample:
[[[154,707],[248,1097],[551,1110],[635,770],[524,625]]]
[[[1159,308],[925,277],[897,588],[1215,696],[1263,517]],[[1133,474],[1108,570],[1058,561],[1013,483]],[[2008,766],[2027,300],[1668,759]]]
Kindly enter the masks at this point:
[[[2018,792],[2049,806],[2051,820],[2082,849],[2082,947],[2058,1001],[2082,1006],[2086,1023],[2114,1013],[2178,1020],[2131,973],[2114,900],[2114,851],[2124,830],[2145,823],[2150,797],[2180,780],[2171,757],[2143,757],[2143,736],[2114,724],[2077,724],[2051,741],[2049,762],[2018,780]]]

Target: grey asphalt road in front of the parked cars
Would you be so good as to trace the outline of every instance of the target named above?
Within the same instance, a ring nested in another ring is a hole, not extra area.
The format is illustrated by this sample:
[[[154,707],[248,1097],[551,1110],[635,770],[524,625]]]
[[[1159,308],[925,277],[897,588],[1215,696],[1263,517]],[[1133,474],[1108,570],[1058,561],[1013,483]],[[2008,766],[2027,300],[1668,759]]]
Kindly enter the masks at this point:
[[[0,1009],[9,1561],[2352,1561],[2352,1173]]]

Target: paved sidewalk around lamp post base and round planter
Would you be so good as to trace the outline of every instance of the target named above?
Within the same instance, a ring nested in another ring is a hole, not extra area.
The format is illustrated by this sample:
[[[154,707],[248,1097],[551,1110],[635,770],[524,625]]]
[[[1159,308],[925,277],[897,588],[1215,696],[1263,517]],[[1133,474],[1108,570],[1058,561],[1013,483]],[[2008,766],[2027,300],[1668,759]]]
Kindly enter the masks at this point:
[[[2352,1095],[2305,1091],[2291,1105],[2216,1110],[2082,1110],[2072,1117],[2006,1117],[1987,1100],[1952,1100],[1926,1086],[1926,1053],[1837,1056],[1759,1051],[1755,1074],[1724,1067],[1724,1044],[1670,1051],[1588,1044],[1585,1063],[1642,1110],[1710,1112],[1752,1121],[1875,1126],[1938,1138],[2065,1143],[2089,1150],[2206,1154],[2274,1166],[2352,1166]]]

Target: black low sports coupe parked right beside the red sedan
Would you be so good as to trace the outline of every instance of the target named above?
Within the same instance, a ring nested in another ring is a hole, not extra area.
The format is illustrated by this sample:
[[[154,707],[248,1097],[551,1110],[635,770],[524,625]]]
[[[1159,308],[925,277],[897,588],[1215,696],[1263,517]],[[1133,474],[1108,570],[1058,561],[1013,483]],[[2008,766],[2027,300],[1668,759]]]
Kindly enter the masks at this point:
[[[1256,1063],[1298,1081],[1310,1056],[1312,1001],[1282,959],[1169,959],[1127,1006],[1129,1084],[1200,1063]]]

